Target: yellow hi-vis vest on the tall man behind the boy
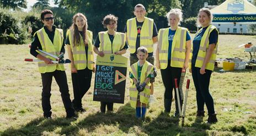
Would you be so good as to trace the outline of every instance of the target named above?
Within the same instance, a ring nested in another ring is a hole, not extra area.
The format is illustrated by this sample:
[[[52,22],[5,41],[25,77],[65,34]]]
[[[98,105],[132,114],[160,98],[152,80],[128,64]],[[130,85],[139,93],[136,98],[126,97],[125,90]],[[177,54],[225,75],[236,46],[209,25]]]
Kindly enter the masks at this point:
[[[148,53],[153,52],[153,24],[154,20],[151,18],[146,18],[141,27],[140,35],[140,47],[144,46],[147,48]],[[127,20],[127,41],[129,44],[130,52],[135,53],[136,51],[136,40],[137,40],[137,24],[136,18],[131,18]]]

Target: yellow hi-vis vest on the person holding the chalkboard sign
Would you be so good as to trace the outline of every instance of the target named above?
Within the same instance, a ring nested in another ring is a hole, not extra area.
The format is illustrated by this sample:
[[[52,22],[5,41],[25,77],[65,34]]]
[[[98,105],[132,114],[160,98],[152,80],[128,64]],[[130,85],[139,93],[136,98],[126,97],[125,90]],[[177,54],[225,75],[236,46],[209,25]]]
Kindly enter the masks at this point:
[[[114,40],[111,45],[109,39],[108,31],[99,32],[99,41],[100,41],[100,51],[103,51],[104,54],[111,54],[118,51],[121,51],[125,46],[126,37],[122,32],[115,32]],[[112,52],[111,52],[112,51]]]

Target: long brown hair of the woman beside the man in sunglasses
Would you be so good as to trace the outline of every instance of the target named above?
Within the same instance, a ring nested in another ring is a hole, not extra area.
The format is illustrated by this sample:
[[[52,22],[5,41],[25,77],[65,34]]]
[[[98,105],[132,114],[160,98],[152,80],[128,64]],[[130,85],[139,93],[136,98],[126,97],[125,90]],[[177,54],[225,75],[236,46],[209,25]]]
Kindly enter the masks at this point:
[[[82,17],[83,20],[84,20],[84,27],[83,27],[83,34],[82,34],[82,39],[83,39],[83,43],[85,46],[88,46],[87,43],[88,43],[88,39],[87,39],[87,34],[86,34],[86,31],[87,31],[87,28],[88,28],[88,24],[87,24],[87,18],[85,15],[83,15],[82,13],[77,13],[73,16],[73,24],[71,25],[71,30],[73,30],[74,34],[73,34],[73,46],[79,46],[80,43],[82,42],[80,40],[80,34],[79,34],[79,31],[78,31],[78,28],[77,28],[77,25],[76,25],[76,19],[77,17]]]

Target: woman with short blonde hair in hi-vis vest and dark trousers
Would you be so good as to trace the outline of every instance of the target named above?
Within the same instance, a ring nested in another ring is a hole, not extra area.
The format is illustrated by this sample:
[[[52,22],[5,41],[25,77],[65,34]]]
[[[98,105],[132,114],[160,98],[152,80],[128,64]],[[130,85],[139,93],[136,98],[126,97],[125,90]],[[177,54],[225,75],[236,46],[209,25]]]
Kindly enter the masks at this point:
[[[186,28],[178,26],[182,21],[182,10],[171,9],[166,17],[168,19],[169,28],[160,29],[159,41],[156,50],[156,67],[161,69],[162,80],[164,84],[164,111],[169,113],[171,110],[173,89],[175,89],[174,79],[179,84],[182,70],[189,67],[189,58],[191,51],[191,40],[189,31]],[[183,101],[179,89],[180,107]],[[177,93],[174,91],[175,97],[175,114],[179,115]]]

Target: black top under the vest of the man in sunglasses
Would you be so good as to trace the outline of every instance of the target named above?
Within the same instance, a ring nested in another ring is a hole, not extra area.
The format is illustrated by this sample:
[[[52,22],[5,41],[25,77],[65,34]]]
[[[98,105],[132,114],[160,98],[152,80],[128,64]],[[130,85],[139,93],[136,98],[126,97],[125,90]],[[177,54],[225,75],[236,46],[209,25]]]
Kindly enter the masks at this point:
[[[45,29],[45,32],[48,35],[49,39],[51,40],[51,42],[54,43],[54,34],[55,34],[56,26],[52,26],[52,31],[49,31],[46,26],[44,26],[44,29]],[[61,47],[61,52],[63,52],[63,53],[65,53],[64,41],[65,40],[63,40],[62,47]],[[34,40],[31,43],[30,54],[35,57],[38,56],[39,53],[36,52],[36,50],[38,50],[38,49],[42,50],[42,46],[38,39],[38,35],[36,34],[34,37]]]

